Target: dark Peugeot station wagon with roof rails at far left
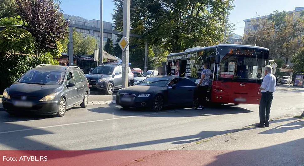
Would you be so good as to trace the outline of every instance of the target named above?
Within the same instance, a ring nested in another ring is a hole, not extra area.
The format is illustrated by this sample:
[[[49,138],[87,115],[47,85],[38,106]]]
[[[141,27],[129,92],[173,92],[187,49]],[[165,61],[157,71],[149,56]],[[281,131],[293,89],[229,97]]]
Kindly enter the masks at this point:
[[[8,113],[57,114],[78,104],[85,108],[89,83],[76,66],[38,65],[27,71],[3,92],[2,104]]]

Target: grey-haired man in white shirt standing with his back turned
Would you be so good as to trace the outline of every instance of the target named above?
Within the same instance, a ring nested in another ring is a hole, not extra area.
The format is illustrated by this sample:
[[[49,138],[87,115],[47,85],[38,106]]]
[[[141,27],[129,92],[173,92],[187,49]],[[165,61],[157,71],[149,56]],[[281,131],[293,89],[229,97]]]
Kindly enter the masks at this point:
[[[270,107],[276,84],[275,75],[271,74],[271,71],[272,67],[270,65],[265,66],[265,77],[261,87],[259,87],[259,90],[262,92],[259,106],[260,123],[255,125],[255,127],[269,127]]]

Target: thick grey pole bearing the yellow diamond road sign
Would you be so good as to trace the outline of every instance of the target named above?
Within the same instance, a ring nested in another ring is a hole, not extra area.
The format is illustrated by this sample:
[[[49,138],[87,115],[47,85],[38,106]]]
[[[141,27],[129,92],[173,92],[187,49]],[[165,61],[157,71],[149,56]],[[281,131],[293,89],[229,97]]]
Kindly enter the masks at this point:
[[[130,1],[123,0],[123,36],[129,41],[130,37]],[[129,82],[129,46],[123,51],[122,88],[128,87]]]

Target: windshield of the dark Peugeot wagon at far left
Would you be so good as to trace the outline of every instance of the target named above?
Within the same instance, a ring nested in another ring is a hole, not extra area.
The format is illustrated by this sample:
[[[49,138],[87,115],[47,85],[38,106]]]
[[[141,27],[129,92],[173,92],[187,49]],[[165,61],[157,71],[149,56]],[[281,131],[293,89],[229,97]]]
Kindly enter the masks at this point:
[[[18,82],[38,85],[60,85],[64,74],[64,71],[32,69],[26,72]]]

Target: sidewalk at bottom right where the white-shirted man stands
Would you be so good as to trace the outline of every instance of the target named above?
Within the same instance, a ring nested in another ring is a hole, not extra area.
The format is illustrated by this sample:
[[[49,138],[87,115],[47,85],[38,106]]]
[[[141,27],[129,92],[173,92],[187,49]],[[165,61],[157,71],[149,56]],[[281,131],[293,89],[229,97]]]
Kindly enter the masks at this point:
[[[282,117],[272,120],[270,127],[251,125],[125,165],[304,166],[304,119]]]

